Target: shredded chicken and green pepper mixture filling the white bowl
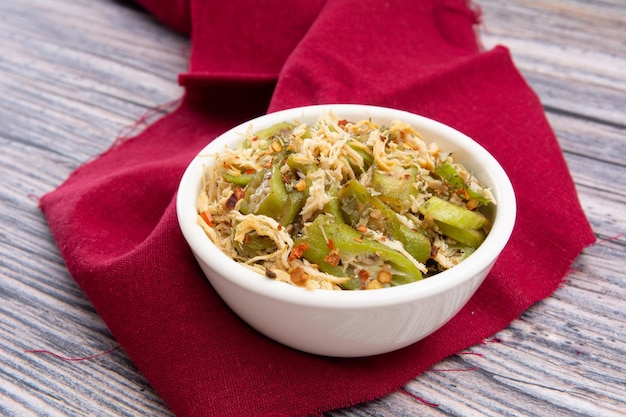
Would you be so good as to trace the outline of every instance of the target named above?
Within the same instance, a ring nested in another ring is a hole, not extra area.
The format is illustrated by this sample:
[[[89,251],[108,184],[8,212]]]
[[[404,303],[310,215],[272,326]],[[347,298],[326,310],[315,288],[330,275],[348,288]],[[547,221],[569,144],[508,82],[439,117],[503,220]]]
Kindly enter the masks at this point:
[[[488,233],[490,190],[405,122],[330,113],[242,135],[204,167],[198,222],[268,278],[309,289],[406,284],[457,265]]]

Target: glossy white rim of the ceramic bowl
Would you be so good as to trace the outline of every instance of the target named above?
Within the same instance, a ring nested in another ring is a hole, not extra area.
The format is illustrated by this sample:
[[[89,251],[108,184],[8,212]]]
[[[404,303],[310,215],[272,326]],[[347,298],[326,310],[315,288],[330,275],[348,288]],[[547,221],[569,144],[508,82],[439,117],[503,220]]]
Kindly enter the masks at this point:
[[[375,120],[400,119],[413,125],[418,131],[427,129],[436,132],[439,136],[445,136],[446,142],[451,142],[454,146],[459,146],[469,154],[475,155],[474,159],[480,160],[483,168],[490,173],[491,178],[488,182],[491,182],[491,190],[497,201],[496,215],[485,241],[471,256],[451,269],[427,279],[376,291],[307,290],[266,278],[233,261],[218,249],[196,221],[200,175],[204,165],[212,159],[211,153],[223,149],[225,144],[233,146],[242,139],[243,133],[251,125],[254,129],[263,129],[280,121],[316,118],[330,111],[342,117],[361,114],[362,118],[369,115]],[[230,283],[284,303],[318,308],[354,309],[415,302],[445,292],[480,275],[492,266],[513,232],[516,200],[511,181],[499,162],[482,145],[448,125],[425,116],[389,107],[365,104],[322,104],[268,113],[243,122],[217,136],[196,154],[185,169],[176,196],[176,211],[181,231],[194,255]],[[215,276],[207,276],[207,278],[209,281],[219,279]]]

